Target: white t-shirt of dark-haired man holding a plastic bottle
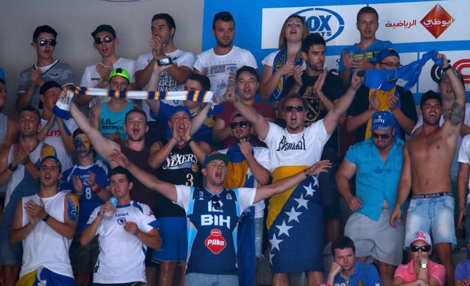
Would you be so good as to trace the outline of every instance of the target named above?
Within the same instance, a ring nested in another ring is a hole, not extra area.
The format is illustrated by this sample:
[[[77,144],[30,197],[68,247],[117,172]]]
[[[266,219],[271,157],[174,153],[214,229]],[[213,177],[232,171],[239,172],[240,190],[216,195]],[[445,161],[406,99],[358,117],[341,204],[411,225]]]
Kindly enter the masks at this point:
[[[101,206],[96,207],[87,225],[93,223]],[[159,226],[148,205],[131,201],[127,205],[118,205],[112,218],[103,218],[96,234],[99,235],[98,271],[93,274],[95,283],[130,283],[147,282],[145,277],[145,253],[147,246],[142,241],[124,230],[127,221],[136,223],[142,232],[148,233]]]

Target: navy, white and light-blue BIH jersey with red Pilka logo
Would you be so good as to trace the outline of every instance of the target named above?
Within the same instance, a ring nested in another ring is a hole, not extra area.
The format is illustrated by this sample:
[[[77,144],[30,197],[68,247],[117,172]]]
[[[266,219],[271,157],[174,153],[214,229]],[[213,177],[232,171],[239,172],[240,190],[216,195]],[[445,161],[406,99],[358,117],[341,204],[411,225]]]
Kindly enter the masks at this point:
[[[187,216],[186,274],[237,275],[238,218],[253,205],[256,188],[223,189],[214,195],[205,188],[176,185],[176,192],[176,203]]]

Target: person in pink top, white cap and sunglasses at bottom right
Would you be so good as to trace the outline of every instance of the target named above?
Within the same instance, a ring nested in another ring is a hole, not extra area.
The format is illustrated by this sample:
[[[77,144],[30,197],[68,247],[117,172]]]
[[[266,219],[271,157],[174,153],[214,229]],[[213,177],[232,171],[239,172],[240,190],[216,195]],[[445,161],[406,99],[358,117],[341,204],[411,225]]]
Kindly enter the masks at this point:
[[[429,234],[427,232],[415,232],[411,236],[411,243],[409,244],[411,261],[408,264],[398,266],[395,272],[394,286],[444,285],[446,269],[429,259],[432,249]]]

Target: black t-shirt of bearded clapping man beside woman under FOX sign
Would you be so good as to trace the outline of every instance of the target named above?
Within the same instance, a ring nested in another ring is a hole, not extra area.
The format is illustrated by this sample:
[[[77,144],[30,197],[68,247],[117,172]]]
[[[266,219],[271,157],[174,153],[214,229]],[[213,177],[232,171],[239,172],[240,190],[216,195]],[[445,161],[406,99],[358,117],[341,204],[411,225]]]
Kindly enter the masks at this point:
[[[306,71],[302,74],[302,88],[298,91],[298,94],[302,95],[304,99],[307,100],[307,118],[305,119],[305,125],[309,126],[311,123],[314,123],[320,119],[325,118],[328,113],[328,110],[325,108],[325,105],[320,101],[320,98],[314,94],[314,84],[318,76],[309,76]],[[294,76],[289,76],[285,82],[285,87],[283,88],[283,94],[281,96],[286,96],[289,91],[292,89],[295,80]],[[341,81],[339,76],[327,74],[325,79],[325,84],[322,88],[323,93],[327,98],[333,102],[336,99],[339,99],[343,94],[345,94],[345,87],[343,81]],[[328,142],[325,144],[325,147],[333,148],[338,150],[338,128],[331,134]]]

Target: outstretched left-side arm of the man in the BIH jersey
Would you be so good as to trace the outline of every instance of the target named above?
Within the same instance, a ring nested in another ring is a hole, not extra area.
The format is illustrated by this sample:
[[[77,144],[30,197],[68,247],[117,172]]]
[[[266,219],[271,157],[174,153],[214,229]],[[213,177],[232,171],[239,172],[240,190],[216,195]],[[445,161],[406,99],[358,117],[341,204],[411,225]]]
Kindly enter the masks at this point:
[[[121,167],[126,168],[132,173],[137,180],[139,180],[145,187],[159,192],[163,196],[169,198],[171,201],[176,202],[178,195],[176,194],[176,186],[164,181],[160,181],[155,176],[141,170],[139,167],[131,163],[127,157],[121,153],[120,150],[114,149],[114,153],[110,156],[111,161],[119,164]]]

